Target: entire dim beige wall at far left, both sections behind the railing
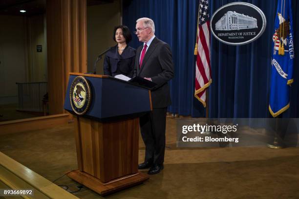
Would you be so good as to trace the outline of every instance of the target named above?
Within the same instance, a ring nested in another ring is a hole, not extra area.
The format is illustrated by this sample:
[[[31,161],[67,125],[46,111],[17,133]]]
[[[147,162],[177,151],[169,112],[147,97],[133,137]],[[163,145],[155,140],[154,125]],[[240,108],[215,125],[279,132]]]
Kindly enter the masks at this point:
[[[43,15],[0,16],[0,104],[17,103],[16,82],[47,80],[43,24]]]

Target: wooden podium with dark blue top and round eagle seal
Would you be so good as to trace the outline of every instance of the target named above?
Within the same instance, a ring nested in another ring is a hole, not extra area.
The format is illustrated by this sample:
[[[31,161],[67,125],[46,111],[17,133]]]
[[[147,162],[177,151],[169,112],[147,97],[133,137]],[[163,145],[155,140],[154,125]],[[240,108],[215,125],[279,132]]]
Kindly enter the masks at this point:
[[[70,73],[64,109],[75,116],[78,170],[68,177],[107,195],[140,184],[139,117],[150,91],[109,76]]]

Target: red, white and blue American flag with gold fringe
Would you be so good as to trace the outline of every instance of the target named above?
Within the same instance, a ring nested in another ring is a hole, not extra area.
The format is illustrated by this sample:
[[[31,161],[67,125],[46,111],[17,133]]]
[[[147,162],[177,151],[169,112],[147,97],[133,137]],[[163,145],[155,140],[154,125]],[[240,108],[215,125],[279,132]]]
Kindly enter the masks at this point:
[[[197,40],[194,50],[195,93],[194,96],[206,107],[206,89],[212,83],[210,62],[210,16],[209,0],[200,0],[198,9]]]

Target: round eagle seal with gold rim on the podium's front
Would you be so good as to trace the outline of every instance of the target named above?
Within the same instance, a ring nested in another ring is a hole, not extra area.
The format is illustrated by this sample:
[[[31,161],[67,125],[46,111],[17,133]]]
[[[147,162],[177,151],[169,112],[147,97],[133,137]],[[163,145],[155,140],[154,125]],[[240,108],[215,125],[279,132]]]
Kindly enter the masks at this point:
[[[69,99],[77,115],[84,115],[87,112],[91,102],[91,93],[89,83],[84,77],[78,76],[72,81]]]

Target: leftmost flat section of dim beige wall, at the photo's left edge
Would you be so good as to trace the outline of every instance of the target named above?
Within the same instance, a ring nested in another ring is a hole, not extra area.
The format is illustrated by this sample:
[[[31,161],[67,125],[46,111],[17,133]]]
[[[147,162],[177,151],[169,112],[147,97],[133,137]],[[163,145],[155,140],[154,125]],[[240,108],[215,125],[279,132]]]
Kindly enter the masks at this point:
[[[26,19],[0,16],[0,103],[17,102],[16,82],[26,80]]]

